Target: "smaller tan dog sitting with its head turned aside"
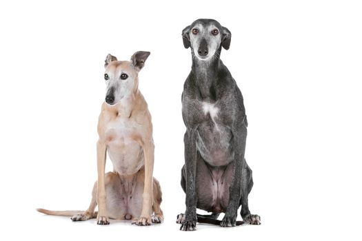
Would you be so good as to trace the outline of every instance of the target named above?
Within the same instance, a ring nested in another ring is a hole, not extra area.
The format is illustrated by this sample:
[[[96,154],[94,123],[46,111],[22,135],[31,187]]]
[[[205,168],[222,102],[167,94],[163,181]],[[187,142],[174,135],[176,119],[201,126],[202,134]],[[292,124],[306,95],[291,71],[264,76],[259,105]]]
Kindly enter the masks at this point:
[[[136,52],[131,61],[105,59],[105,102],[98,121],[98,181],[86,211],[49,211],[41,213],[72,216],[72,221],[97,218],[97,224],[109,224],[109,218],[134,220],[144,226],[163,222],[161,187],[152,177],[154,143],[151,115],[139,91],[139,71],[150,52]],[[106,153],[113,170],[105,174]],[[94,209],[98,205],[98,212]],[[154,215],[151,216],[151,214]]]

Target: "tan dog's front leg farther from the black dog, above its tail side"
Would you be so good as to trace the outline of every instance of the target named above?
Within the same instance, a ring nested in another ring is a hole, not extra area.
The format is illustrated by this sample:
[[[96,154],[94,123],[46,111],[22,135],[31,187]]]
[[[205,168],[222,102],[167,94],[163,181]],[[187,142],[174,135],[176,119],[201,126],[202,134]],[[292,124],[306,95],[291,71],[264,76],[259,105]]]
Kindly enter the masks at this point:
[[[98,216],[97,224],[107,225],[110,224],[108,220],[107,207],[105,204],[105,154],[107,147],[105,143],[98,141],[97,143],[97,171],[98,171],[98,188],[97,188],[97,202],[98,202]]]

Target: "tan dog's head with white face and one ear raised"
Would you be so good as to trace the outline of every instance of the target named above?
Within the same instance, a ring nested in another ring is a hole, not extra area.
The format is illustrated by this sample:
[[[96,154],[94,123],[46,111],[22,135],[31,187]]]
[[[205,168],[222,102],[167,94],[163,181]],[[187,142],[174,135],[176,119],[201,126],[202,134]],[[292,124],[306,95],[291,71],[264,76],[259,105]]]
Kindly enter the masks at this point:
[[[150,52],[135,52],[131,61],[117,61],[115,56],[107,55],[104,64],[106,103],[115,105],[125,96],[130,96],[138,90],[138,74],[149,55]]]

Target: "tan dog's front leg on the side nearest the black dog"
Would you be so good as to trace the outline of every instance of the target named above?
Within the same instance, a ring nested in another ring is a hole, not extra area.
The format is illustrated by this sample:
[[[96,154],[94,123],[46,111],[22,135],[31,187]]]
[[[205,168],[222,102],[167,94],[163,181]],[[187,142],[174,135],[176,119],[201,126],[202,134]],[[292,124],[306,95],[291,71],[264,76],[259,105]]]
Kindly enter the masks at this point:
[[[154,165],[154,144],[153,140],[148,140],[143,145],[143,154],[145,156],[145,187],[143,189],[143,206],[141,217],[134,222],[137,225],[145,226],[151,224],[151,213],[153,204],[153,165]]]

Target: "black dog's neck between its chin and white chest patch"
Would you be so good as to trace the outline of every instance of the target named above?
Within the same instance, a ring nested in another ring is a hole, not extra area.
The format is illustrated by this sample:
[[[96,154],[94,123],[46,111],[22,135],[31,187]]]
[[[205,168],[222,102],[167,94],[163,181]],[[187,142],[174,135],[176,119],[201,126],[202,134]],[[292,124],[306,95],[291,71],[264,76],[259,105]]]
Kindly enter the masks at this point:
[[[217,98],[216,85],[221,66],[220,53],[221,49],[217,50],[209,60],[203,61],[192,52],[191,72],[196,78],[201,98],[206,101],[215,101]]]

